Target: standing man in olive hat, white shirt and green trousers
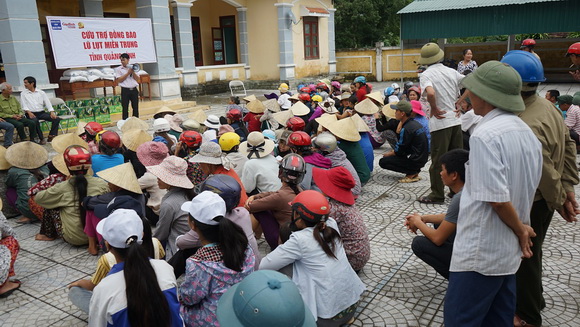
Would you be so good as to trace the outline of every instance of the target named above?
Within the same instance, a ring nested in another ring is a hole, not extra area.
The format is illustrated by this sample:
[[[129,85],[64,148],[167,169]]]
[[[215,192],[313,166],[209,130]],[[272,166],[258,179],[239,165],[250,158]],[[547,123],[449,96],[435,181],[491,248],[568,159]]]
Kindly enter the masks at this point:
[[[446,152],[463,148],[461,120],[455,116],[455,102],[459,97],[459,82],[465,77],[455,69],[444,66],[443,50],[436,43],[427,43],[421,48],[419,64],[428,65],[420,74],[421,89],[425,90],[431,106],[429,130],[431,131],[431,193],[417,199],[421,203],[442,204],[445,200],[445,185],[441,180],[439,158]]]

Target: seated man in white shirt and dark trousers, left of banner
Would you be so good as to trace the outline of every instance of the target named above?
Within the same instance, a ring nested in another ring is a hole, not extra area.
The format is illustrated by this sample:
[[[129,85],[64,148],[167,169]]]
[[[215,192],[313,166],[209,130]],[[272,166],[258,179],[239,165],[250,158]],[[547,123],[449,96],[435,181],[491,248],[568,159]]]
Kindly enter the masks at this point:
[[[24,87],[26,90],[22,91],[20,94],[20,102],[22,104],[22,109],[26,113],[29,119],[32,119],[36,123],[36,133],[40,139],[40,144],[46,144],[44,140],[44,135],[40,129],[40,120],[45,120],[51,122],[50,132],[48,132],[48,142],[58,135],[58,125],[60,124],[60,118],[56,115],[50,99],[46,93],[36,88],[36,78],[32,76],[27,76],[24,78]],[[48,113],[45,111],[48,110]]]

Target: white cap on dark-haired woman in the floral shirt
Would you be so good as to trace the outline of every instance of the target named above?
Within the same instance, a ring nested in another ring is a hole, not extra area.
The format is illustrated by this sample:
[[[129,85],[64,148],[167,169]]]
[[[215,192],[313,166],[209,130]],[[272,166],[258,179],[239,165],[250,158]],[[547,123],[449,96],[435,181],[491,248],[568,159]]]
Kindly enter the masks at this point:
[[[219,221],[214,218],[226,215],[226,203],[217,193],[203,191],[193,200],[184,202],[181,210],[189,212],[195,220],[203,224],[216,226]]]

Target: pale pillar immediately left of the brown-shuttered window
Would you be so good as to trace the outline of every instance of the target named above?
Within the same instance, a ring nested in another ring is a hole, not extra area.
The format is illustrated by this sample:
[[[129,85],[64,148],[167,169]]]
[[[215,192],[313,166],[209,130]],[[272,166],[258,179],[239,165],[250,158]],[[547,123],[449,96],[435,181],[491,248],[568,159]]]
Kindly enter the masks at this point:
[[[289,13],[294,6],[291,3],[275,3],[278,7],[278,46],[280,48],[280,80],[294,79],[294,46],[292,44],[292,21]]]

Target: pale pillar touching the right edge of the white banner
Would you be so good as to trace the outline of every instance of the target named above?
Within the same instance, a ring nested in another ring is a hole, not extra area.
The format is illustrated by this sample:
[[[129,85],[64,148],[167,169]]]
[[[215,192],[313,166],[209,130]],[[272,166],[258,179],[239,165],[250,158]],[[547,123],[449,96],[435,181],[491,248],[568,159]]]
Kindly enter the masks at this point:
[[[173,39],[167,0],[135,0],[137,17],[150,18],[157,62],[144,64],[151,76],[151,95],[166,100],[181,97],[179,76],[173,61]]]

